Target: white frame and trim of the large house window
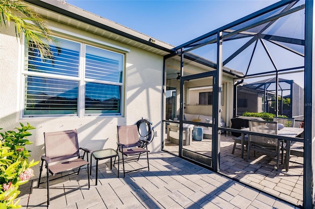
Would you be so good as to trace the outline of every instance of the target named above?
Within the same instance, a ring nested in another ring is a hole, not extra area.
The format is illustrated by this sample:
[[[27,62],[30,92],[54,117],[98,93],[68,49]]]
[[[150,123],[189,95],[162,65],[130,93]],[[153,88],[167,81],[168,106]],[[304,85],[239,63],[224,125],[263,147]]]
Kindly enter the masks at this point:
[[[59,30],[61,31],[61,30]],[[66,30],[63,30],[66,31]],[[69,35],[67,34],[62,34],[61,36],[57,35],[52,35],[53,37],[64,39],[66,41],[71,41],[75,43],[80,44],[80,57],[79,57],[79,75],[78,77],[71,77],[71,76],[64,76],[64,75],[55,75],[55,74],[50,74],[49,78],[61,78],[61,79],[67,79],[67,80],[76,80],[79,81],[79,86],[78,86],[78,109],[77,109],[77,114],[61,114],[61,115],[30,115],[26,116],[24,115],[24,105],[25,105],[25,88],[26,88],[26,83],[25,83],[25,76],[40,76],[40,77],[47,77],[46,73],[39,73],[39,72],[30,72],[27,71],[26,66],[28,65],[25,56],[26,56],[26,48],[25,48],[25,37],[23,36],[21,43],[21,65],[20,65],[20,119],[31,119],[31,118],[36,118],[36,119],[43,119],[43,118],[70,118],[70,117],[78,117],[78,118],[83,118],[83,117],[123,117],[125,115],[125,75],[126,75],[126,52],[130,52],[129,50],[121,47],[117,47],[114,45],[107,44],[102,41],[98,41],[96,39],[91,39],[89,37],[85,37],[82,35],[78,35],[77,37],[73,37],[74,33],[69,32],[70,37],[75,38],[76,40],[73,40],[72,38],[68,38]],[[95,45],[100,45],[100,46],[95,46]],[[110,45],[110,46],[108,46]],[[123,78],[122,82],[112,82],[112,81],[102,81],[102,80],[95,80],[91,78],[85,78],[85,51],[86,51],[86,46],[90,46],[93,48],[97,48],[100,50],[106,50],[108,52],[113,52],[117,54],[121,54],[122,57],[122,71],[123,71]],[[104,47],[104,48],[102,48]],[[108,49],[111,48],[112,50]],[[115,47],[115,48],[113,48]],[[123,51],[123,52],[122,52]],[[97,83],[104,83],[104,84],[111,84],[111,85],[117,85],[121,86],[121,98],[120,98],[120,113],[117,114],[85,114],[85,83],[86,82],[97,82]]]

